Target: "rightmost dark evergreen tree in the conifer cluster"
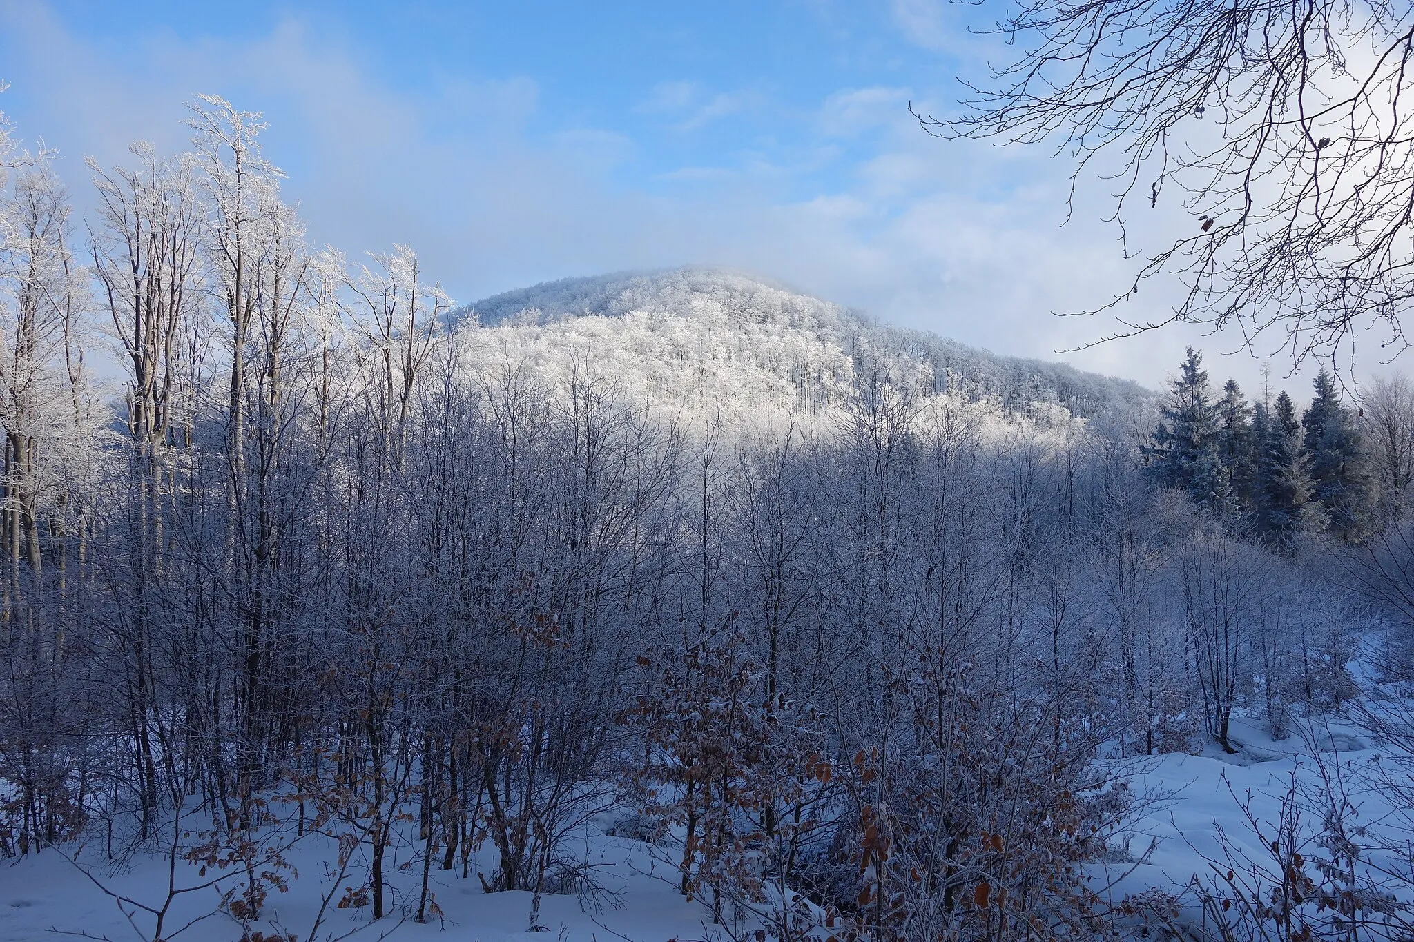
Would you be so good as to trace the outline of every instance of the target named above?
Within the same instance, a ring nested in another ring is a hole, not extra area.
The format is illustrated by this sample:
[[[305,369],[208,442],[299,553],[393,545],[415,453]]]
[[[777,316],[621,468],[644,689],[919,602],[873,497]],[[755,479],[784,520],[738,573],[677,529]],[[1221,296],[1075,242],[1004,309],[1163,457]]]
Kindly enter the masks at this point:
[[[1311,467],[1312,499],[1321,503],[1332,534],[1355,542],[1369,518],[1370,482],[1360,427],[1321,370],[1315,397],[1301,417],[1302,451]]]

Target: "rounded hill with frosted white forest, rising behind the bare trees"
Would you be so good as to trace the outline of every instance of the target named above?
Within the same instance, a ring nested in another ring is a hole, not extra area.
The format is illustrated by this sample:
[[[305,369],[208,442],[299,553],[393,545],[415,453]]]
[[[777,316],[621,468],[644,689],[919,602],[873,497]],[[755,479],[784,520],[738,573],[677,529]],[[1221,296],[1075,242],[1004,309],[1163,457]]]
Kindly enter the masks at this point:
[[[626,393],[680,408],[735,403],[816,412],[868,376],[925,395],[993,400],[1007,411],[1060,405],[1076,418],[1154,397],[1127,380],[997,356],[715,268],[550,281],[485,298],[454,318],[481,325],[467,343],[482,367],[523,364],[553,383],[608,376]]]

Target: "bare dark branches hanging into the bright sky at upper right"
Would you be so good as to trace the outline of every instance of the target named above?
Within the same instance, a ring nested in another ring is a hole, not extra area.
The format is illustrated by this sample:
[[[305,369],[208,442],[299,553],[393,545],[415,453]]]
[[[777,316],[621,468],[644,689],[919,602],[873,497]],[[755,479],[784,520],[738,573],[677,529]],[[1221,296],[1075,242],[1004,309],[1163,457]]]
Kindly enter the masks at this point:
[[[1355,356],[1372,329],[1407,346],[1414,11],[1379,0],[1304,4],[1019,0],[994,32],[1010,61],[969,83],[943,137],[1052,144],[1134,201],[1189,219],[1100,306],[1126,336],[1169,322],[1234,326],[1295,362]],[[1168,316],[1121,314],[1141,281],[1176,274]]]

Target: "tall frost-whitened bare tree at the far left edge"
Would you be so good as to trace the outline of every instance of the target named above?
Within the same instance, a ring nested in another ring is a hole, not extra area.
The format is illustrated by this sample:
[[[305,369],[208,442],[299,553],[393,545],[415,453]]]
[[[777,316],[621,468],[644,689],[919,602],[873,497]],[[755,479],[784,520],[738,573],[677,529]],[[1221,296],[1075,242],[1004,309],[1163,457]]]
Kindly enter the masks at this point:
[[[83,369],[86,278],[68,192],[47,167],[0,195],[0,815],[18,852],[83,821],[92,703],[81,566],[92,548],[98,419]],[[0,825],[3,826],[3,825]]]

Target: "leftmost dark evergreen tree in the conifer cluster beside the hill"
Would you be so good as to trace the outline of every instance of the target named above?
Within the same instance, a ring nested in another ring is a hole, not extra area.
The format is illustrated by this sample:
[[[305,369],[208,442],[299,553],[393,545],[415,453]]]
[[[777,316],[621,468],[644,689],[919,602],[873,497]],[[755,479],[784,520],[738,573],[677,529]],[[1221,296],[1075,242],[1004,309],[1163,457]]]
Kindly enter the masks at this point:
[[[1162,419],[1145,449],[1150,467],[1165,487],[1188,494],[1220,518],[1236,511],[1232,480],[1222,459],[1222,414],[1208,388],[1203,354],[1188,347]]]

